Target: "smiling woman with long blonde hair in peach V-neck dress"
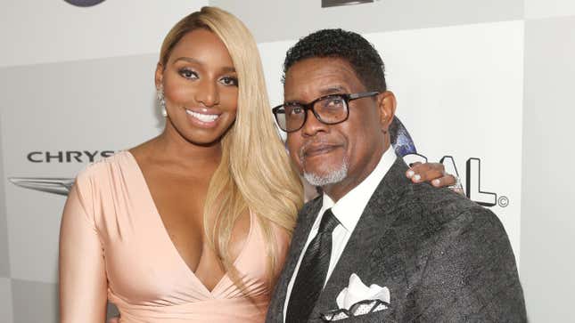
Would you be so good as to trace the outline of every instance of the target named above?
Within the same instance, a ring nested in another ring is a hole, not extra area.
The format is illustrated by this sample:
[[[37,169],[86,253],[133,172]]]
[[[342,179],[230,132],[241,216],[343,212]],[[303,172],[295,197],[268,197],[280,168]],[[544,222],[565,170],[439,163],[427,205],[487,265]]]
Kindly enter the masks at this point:
[[[122,322],[263,321],[303,191],[257,46],[204,7],[168,33],[155,82],[164,131],[86,167],[70,192],[62,322],[102,323],[107,300]]]

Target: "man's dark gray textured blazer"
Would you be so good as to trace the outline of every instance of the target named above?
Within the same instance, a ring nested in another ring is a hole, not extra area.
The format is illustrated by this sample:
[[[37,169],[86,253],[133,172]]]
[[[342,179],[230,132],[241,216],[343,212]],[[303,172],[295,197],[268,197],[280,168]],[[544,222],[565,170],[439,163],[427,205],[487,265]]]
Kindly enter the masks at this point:
[[[336,310],[356,273],[390,289],[390,308],[338,322],[526,322],[522,287],[505,230],[489,209],[447,189],[413,184],[398,158],[370,198],[309,322]],[[267,322],[283,323],[287,285],[322,206],[300,211]]]

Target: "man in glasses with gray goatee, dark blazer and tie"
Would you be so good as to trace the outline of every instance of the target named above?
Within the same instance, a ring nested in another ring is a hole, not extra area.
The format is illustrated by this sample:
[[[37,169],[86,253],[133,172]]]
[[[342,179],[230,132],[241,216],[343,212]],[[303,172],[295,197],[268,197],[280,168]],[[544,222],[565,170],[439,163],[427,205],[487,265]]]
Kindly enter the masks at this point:
[[[355,33],[324,29],[284,62],[274,109],[293,163],[324,194],[300,211],[267,322],[524,322],[513,251],[497,216],[405,181],[390,149],[396,100]]]

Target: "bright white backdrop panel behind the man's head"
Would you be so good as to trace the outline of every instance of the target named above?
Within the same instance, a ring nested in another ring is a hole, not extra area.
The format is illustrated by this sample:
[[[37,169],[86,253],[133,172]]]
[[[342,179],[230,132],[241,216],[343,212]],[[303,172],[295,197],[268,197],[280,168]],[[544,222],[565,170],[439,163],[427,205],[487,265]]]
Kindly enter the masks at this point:
[[[465,162],[481,159],[481,190],[520,253],[523,22],[427,28],[366,37],[382,53],[397,115],[430,161],[453,156],[465,183]],[[283,101],[285,51],[295,41],[260,44],[272,104]],[[476,177],[473,177],[476,179]]]

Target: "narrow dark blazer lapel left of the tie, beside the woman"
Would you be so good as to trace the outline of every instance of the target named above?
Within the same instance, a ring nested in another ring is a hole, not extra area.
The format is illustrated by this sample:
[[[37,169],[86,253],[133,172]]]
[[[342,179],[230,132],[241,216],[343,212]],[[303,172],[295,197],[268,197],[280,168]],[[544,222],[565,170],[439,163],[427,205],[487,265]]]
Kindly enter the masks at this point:
[[[308,241],[309,231],[316,220],[317,213],[321,209],[322,204],[322,198],[316,198],[308,202],[308,205],[304,206],[298,215],[298,221],[295,230],[293,230],[290,251],[283,265],[282,274],[275,284],[275,291],[269,304],[267,322],[283,323],[283,305],[285,304],[287,287],[292,279],[293,271],[295,271],[295,266],[300,259],[301,251],[306,245],[306,241]]]

